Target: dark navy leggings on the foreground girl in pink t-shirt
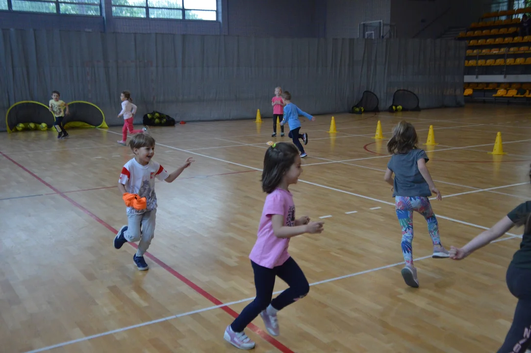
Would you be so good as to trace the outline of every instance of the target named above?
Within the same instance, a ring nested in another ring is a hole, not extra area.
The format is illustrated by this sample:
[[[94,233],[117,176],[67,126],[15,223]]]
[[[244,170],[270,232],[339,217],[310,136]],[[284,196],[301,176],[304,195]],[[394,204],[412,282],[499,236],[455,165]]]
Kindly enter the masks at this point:
[[[301,268],[295,260],[290,257],[285,263],[272,269],[260,266],[251,261],[254,271],[254,286],[256,287],[256,298],[247,305],[236,320],[230,324],[234,332],[242,332],[247,325],[260,315],[271,304],[277,310],[281,310],[294,303],[296,300],[305,297],[310,291],[310,285],[304,276]],[[280,277],[289,286],[281,292],[278,297],[271,300],[275,278]]]

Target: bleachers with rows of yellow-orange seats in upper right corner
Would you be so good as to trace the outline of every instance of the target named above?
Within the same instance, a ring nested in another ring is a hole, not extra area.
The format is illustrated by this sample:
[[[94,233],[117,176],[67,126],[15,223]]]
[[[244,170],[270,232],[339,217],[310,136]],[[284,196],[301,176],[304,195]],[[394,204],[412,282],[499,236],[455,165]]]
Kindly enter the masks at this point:
[[[459,33],[456,39],[468,44],[465,75],[531,75],[531,33],[519,30],[521,14],[529,13],[531,7],[486,13]],[[464,96],[531,102],[531,83],[466,83]]]

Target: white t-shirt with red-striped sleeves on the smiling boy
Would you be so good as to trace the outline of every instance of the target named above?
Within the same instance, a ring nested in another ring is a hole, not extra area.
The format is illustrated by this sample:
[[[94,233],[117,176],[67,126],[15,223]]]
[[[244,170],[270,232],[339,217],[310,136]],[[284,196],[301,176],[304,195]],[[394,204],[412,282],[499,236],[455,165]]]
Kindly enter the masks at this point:
[[[168,176],[166,169],[153,160],[150,160],[145,166],[134,158],[125,163],[118,183],[125,186],[126,192],[138,194],[140,197],[145,197],[147,201],[145,210],[135,210],[132,207],[127,207],[127,214],[141,214],[155,210],[157,208],[155,178],[165,180]]]

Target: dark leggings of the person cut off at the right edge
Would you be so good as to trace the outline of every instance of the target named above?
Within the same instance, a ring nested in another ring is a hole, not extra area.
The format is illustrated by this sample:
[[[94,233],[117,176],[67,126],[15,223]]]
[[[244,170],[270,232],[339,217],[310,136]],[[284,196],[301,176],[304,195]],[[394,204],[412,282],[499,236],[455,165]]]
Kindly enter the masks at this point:
[[[510,264],[506,281],[511,294],[518,298],[518,303],[511,328],[498,353],[523,353],[531,347],[531,269],[521,269]]]

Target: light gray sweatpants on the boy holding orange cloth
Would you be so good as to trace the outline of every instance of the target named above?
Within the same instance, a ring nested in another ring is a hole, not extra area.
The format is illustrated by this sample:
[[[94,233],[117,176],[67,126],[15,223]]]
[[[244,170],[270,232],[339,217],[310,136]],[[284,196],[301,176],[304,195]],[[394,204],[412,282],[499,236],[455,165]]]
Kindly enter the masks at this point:
[[[136,256],[144,256],[155,236],[155,216],[157,209],[140,214],[127,214],[127,230],[124,237],[128,242],[139,242]],[[142,231],[140,231],[142,225]]]

